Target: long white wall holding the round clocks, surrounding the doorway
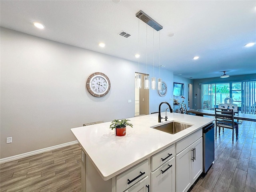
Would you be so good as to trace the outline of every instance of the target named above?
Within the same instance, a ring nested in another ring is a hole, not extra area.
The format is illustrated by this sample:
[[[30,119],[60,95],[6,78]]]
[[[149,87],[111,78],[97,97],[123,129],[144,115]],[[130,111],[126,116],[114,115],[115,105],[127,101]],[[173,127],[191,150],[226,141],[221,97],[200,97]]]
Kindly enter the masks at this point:
[[[0,158],[74,141],[70,128],[86,122],[134,116],[137,63],[6,28],[0,35]],[[103,72],[111,81],[102,98],[86,90],[93,72]],[[140,72],[146,73],[145,66]],[[161,69],[161,77],[168,94],[162,98],[150,90],[150,112],[172,98],[173,73]],[[10,136],[13,142],[6,144]]]

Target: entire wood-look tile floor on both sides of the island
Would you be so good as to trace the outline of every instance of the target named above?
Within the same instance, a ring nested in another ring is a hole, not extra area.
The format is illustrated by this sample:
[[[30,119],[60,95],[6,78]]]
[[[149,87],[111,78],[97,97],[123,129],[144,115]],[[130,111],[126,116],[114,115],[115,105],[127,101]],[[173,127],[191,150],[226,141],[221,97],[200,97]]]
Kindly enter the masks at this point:
[[[215,139],[215,163],[191,192],[256,192],[256,122],[244,121],[238,139],[224,129]],[[0,165],[1,192],[81,192],[78,144]]]

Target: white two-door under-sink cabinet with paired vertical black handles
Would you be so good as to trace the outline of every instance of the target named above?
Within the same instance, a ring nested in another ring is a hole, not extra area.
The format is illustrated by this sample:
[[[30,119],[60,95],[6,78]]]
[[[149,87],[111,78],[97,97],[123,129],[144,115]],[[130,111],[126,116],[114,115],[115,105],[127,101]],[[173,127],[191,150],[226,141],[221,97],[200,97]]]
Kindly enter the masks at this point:
[[[176,155],[176,191],[186,192],[202,173],[202,137]]]

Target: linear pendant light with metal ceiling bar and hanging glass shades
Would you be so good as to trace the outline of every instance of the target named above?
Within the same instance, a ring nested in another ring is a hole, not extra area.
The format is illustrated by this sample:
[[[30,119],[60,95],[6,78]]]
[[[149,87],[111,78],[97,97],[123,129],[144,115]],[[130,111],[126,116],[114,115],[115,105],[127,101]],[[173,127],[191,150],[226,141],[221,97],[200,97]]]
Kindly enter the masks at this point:
[[[150,18],[150,16],[145,14],[142,10],[140,10],[136,14],[136,17],[138,17],[140,20],[142,20],[143,22],[145,22],[146,24],[148,24],[149,26],[151,26],[153,28],[153,77],[151,78],[151,89],[155,90],[156,89],[156,78],[154,77],[154,30],[159,31],[163,27],[160,24],[158,24],[156,21],[154,21],[152,18]],[[145,86],[146,86],[146,80],[148,80],[148,78],[149,77],[144,78]],[[162,87],[162,80],[160,79],[160,81],[161,81],[160,87]],[[159,81],[158,81],[158,84],[159,84]]]

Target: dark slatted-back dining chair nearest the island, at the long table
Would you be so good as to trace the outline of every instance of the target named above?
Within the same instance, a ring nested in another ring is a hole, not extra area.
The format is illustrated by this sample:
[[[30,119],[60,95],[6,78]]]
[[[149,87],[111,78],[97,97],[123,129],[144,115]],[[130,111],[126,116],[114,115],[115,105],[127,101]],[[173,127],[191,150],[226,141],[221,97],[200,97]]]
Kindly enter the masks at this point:
[[[234,141],[234,129],[236,131],[236,138],[238,137],[238,123],[234,122],[234,110],[233,109],[219,109],[215,108],[215,137],[217,137],[217,127],[232,129],[232,141]]]

